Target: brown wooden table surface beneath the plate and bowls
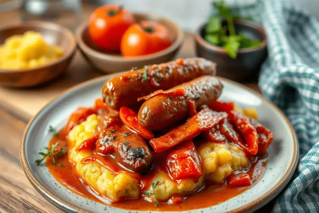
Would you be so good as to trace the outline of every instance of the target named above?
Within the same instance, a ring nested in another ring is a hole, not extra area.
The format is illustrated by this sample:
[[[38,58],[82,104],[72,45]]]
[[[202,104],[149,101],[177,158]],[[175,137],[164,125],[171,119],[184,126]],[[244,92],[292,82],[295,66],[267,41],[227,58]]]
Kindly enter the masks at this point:
[[[94,5],[85,4],[84,20],[94,8]],[[6,20],[5,24],[19,23],[19,10],[2,13],[1,20]],[[4,22],[0,22],[1,25]],[[194,56],[193,38],[187,34],[177,57]],[[19,159],[21,139],[27,122],[49,100],[66,88],[97,76],[100,74],[77,53],[69,70],[60,79],[31,89],[0,88],[0,213],[62,212],[41,197],[26,179]],[[256,83],[246,85],[259,91]],[[268,212],[271,206],[264,209]]]

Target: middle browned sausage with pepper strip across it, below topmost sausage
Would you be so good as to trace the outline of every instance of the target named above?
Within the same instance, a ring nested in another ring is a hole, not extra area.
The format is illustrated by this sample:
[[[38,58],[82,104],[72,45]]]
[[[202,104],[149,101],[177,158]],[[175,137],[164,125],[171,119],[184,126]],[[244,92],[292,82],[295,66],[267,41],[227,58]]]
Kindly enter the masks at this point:
[[[157,95],[145,101],[138,111],[138,122],[148,129],[161,130],[186,119],[189,115],[189,101],[198,108],[215,101],[223,85],[214,76],[201,76],[174,88],[184,88],[183,96]]]

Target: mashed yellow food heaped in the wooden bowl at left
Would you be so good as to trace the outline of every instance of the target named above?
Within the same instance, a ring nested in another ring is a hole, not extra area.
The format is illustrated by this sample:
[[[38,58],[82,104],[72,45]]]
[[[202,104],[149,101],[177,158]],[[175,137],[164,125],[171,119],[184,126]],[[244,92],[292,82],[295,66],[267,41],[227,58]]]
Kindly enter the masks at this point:
[[[64,55],[63,49],[48,44],[41,33],[27,31],[13,35],[0,46],[0,69],[16,70],[54,62]]]

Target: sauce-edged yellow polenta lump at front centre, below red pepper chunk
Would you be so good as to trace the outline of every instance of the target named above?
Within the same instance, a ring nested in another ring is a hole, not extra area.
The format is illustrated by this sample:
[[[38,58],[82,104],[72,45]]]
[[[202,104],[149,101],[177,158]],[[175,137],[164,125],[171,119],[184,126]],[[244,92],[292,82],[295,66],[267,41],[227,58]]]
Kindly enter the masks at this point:
[[[204,176],[202,176],[197,183],[192,179],[185,179],[179,183],[174,182],[165,172],[159,172],[153,179],[153,183],[157,183],[155,187],[155,196],[159,200],[166,200],[173,194],[183,194],[193,192],[195,189],[203,186]],[[151,186],[152,187],[152,186]],[[151,189],[149,189],[152,191]]]

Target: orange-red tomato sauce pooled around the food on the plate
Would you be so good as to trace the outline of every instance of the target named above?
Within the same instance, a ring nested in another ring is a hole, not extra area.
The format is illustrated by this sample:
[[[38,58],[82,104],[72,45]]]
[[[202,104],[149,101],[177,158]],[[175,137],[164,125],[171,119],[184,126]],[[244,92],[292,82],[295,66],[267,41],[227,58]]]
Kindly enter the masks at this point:
[[[53,137],[49,143],[49,147],[51,147],[56,142],[59,142],[57,149],[61,147],[68,147],[68,141],[66,139],[66,134],[64,130],[59,132],[57,137]],[[165,154],[164,154],[165,155]],[[152,172],[146,175],[141,176],[140,188],[146,189],[150,186],[152,179],[156,172],[163,170],[163,166],[161,166],[161,162],[165,157],[163,156],[155,156],[155,161],[158,162],[153,168]],[[161,160],[162,159],[162,160]],[[94,160],[94,159],[93,159]],[[86,186],[82,179],[75,175],[75,168],[72,162],[69,161],[68,155],[64,155],[61,158],[56,158],[56,161],[59,164],[63,164],[64,166],[58,166],[57,164],[52,163],[52,159],[48,158],[46,161],[46,165],[51,172],[51,174],[55,177],[55,179],[61,183],[63,186],[71,190],[72,192],[79,194],[85,198],[90,200],[107,204],[109,206],[113,206],[121,209],[128,210],[159,210],[159,211],[185,211],[191,209],[200,209],[206,208],[213,205],[217,205],[221,202],[225,202],[230,198],[233,198],[245,191],[247,191],[250,187],[254,186],[258,180],[261,179],[263,173],[266,168],[267,159],[255,158],[255,161],[251,163],[247,173],[252,179],[251,186],[245,187],[229,187],[226,186],[225,183],[216,184],[208,181],[204,182],[204,186],[191,194],[188,197],[181,197],[180,195],[174,195],[172,199],[168,200],[166,203],[159,203],[158,207],[154,207],[153,202],[148,202],[144,199],[126,199],[120,202],[111,202],[105,196],[98,194],[93,188],[90,186]],[[182,199],[181,199],[182,198]],[[184,201],[182,201],[184,199]],[[180,204],[172,204],[171,202],[176,202]]]

